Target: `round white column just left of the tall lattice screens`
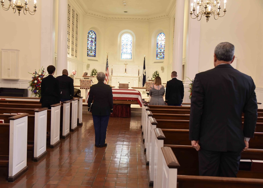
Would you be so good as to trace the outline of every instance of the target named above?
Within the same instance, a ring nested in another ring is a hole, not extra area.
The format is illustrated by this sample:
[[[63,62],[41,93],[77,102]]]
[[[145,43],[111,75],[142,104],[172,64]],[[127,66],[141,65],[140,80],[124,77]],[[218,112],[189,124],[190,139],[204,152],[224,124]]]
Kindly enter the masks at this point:
[[[57,75],[67,69],[68,1],[58,1],[58,61]]]

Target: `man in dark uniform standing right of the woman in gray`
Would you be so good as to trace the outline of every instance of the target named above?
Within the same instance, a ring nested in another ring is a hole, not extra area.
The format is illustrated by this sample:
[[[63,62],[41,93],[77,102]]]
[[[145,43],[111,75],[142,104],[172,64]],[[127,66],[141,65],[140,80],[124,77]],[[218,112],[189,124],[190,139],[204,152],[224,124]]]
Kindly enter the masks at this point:
[[[184,98],[184,85],[177,80],[177,72],[171,73],[172,80],[167,81],[165,90],[165,103],[168,106],[181,106]]]

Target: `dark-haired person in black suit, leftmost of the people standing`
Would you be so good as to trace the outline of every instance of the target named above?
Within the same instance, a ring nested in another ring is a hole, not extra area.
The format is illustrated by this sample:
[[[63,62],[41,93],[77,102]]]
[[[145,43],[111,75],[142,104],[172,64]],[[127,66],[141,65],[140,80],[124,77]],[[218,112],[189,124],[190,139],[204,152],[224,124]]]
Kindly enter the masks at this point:
[[[51,109],[50,105],[60,103],[59,83],[53,77],[56,68],[53,65],[47,67],[48,76],[41,81],[41,106]]]

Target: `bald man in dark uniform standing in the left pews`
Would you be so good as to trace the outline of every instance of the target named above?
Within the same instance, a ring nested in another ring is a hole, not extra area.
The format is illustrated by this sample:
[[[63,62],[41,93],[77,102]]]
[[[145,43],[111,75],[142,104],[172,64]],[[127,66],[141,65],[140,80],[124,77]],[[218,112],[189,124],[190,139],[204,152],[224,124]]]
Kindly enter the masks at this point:
[[[74,96],[73,79],[68,76],[67,69],[62,71],[62,76],[57,77],[60,87],[61,102],[68,101]]]

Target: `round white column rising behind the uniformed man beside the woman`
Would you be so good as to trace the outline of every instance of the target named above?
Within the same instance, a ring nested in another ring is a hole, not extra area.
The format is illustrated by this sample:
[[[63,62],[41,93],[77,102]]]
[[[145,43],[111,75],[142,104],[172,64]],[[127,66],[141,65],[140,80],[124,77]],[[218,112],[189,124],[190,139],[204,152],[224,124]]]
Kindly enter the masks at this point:
[[[172,71],[177,72],[177,78],[182,80],[183,43],[184,43],[184,0],[175,3],[174,48]]]

